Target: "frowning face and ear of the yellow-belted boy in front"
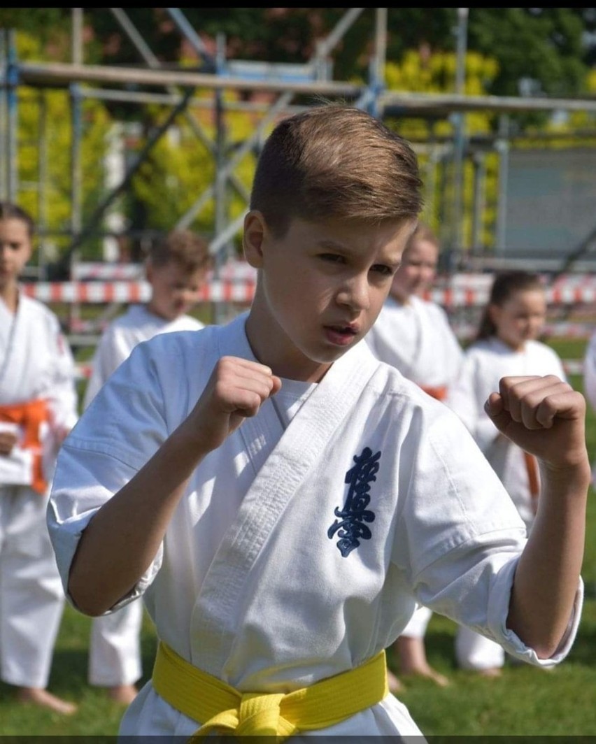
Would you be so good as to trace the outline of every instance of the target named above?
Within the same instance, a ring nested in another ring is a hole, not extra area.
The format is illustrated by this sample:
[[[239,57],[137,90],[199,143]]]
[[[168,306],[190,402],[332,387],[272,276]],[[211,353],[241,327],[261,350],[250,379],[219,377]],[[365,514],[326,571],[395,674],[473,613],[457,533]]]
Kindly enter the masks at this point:
[[[321,379],[376,320],[414,225],[294,219],[276,238],[250,212],[244,247],[260,276],[247,333],[257,359],[279,376]]]

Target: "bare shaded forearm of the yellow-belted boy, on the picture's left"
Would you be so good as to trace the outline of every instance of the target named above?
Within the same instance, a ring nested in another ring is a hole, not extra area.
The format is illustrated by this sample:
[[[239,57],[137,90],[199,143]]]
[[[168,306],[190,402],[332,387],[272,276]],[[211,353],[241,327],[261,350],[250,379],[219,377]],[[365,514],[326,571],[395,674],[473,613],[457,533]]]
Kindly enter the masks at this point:
[[[101,615],[138,582],[164,537],[193,470],[205,456],[179,427],[97,512],[81,536],[68,591],[81,612]]]

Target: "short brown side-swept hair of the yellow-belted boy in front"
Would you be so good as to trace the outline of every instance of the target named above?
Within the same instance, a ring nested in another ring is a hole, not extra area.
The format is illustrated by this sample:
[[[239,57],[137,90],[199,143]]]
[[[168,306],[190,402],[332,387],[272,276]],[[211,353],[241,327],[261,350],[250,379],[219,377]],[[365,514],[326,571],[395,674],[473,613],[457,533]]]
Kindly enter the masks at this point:
[[[422,182],[411,145],[370,114],[325,103],[283,119],[257,163],[250,208],[276,234],[310,221],[416,219]]]

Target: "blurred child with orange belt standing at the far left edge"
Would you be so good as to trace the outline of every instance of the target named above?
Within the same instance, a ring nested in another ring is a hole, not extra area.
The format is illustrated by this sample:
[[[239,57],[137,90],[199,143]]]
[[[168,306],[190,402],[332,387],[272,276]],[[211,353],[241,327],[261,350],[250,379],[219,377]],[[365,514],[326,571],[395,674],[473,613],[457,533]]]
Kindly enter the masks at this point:
[[[57,317],[19,288],[33,232],[28,212],[0,202],[0,677],[20,701],[69,714],[46,689],[64,591],[45,510],[77,392]]]

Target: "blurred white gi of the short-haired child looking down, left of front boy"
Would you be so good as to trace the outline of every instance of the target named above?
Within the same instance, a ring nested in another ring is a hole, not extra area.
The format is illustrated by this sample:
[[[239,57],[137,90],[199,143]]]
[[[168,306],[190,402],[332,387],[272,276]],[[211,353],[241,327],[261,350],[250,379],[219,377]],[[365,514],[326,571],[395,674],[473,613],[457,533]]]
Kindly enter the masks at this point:
[[[132,305],[103,332],[94,353],[92,374],[87,383],[83,405],[86,408],[106,379],[132,349],[141,341],[158,333],[178,330],[199,330],[203,324],[191,315],[181,315],[173,321],[160,318],[145,305]],[[89,684],[116,687],[134,684],[140,679],[141,624],[143,605],[132,602],[112,615],[92,621],[89,643]]]

